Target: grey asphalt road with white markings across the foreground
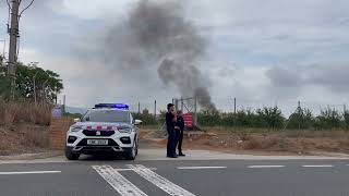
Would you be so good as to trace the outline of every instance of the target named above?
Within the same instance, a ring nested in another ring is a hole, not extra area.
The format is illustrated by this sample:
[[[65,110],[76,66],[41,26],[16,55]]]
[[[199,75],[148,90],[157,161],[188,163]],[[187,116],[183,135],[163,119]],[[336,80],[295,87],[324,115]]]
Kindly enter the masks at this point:
[[[349,160],[0,164],[1,196],[345,196]]]

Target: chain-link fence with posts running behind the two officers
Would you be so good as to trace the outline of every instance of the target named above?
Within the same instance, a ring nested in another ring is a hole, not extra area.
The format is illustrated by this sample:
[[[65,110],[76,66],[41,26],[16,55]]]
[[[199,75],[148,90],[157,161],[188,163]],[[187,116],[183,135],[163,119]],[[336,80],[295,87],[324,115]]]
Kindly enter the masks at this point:
[[[198,126],[268,130],[347,130],[349,126],[349,111],[346,103],[298,100],[255,101],[238,98],[214,100],[217,112],[208,112],[197,106]],[[169,100],[168,102],[172,101]],[[131,105],[131,110],[145,124],[160,126],[164,123],[168,102],[158,100],[140,101]],[[191,109],[186,110],[185,107],[184,105],[177,108],[184,112],[191,112]]]

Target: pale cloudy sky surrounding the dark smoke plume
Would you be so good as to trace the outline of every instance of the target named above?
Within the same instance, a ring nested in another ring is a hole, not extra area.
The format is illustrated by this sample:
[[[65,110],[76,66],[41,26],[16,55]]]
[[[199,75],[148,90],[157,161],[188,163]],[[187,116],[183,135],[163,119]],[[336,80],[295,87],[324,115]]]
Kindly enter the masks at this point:
[[[106,63],[106,36],[139,0],[35,0],[21,17],[20,61],[60,74],[67,103],[128,102],[159,109],[179,90],[157,71]],[[153,0],[156,1],[156,0]],[[22,8],[29,0],[23,0]],[[301,101],[314,110],[349,103],[349,1],[182,0],[183,17],[207,42],[200,69],[220,110],[277,105],[290,112]],[[0,0],[0,40],[8,7]],[[8,41],[9,42],[9,41]],[[0,42],[1,45],[2,42]],[[108,51],[106,51],[108,50]],[[110,51],[111,50],[111,51]]]

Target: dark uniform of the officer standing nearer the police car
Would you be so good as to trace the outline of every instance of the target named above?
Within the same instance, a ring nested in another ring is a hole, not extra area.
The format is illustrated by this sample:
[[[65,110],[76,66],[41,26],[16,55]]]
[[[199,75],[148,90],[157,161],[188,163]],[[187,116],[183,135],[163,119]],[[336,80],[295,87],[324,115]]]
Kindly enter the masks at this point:
[[[166,127],[167,127],[167,157],[176,157],[176,133],[173,122],[174,115],[171,112],[166,113]]]

